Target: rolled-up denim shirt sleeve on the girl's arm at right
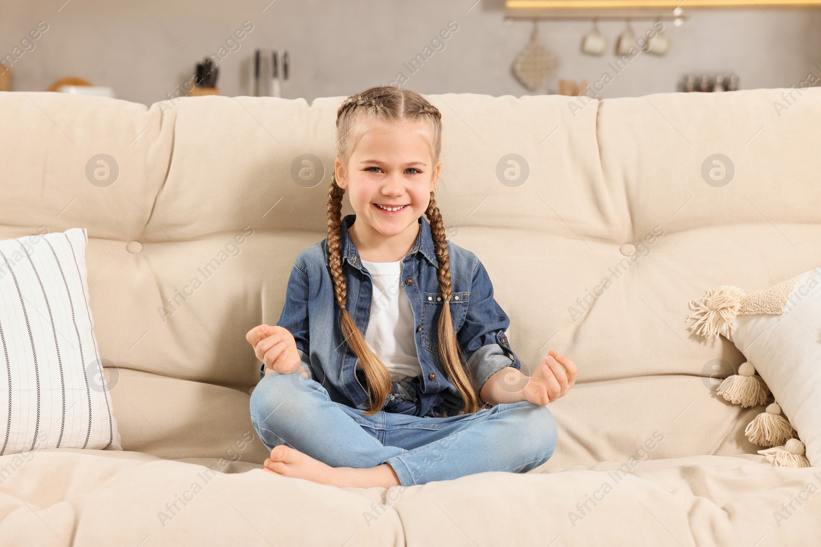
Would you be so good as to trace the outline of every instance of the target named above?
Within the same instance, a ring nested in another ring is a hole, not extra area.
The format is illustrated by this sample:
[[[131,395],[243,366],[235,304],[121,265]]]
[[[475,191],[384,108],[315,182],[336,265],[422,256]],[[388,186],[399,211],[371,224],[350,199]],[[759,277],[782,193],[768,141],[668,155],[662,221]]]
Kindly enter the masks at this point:
[[[465,322],[456,333],[465,352],[467,367],[473,373],[473,387],[477,394],[488,378],[503,368],[521,370],[521,362],[505,335],[508,326],[510,319],[493,298],[493,284],[477,258]]]

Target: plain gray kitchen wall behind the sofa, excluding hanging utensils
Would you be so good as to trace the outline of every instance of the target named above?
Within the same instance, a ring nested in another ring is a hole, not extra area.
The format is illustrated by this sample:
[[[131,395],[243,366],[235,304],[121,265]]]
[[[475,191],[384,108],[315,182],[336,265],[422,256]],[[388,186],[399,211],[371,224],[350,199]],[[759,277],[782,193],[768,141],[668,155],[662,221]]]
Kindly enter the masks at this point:
[[[557,79],[599,80],[615,60],[615,39],[624,21],[600,21],[608,52],[580,52],[590,21],[541,21],[542,43],[559,57],[557,77],[547,89],[530,92],[511,72],[530,39],[530,21],[503,21],[502,0],[364,2],[363,0],[0,0],[0,56],[6,56],[38,21],[48,30],[12,66],[11,90],[42,91],[54,80],[77,75],[110,85],[118,98],[150,104],[177,93],[190,80],[195,62],[218,52],[232,33],[250,21],[253,30],[225,49],[218,87],[223,95],[252,94],[254,48],[287,48],[291,79],[282,97],[356,93],[389,84],[403,72],[402,87],[420,93],[556,93]],[[266,6],[268,6],[266,8]],[[472,7],[471,7],[472,6]],[[263,11],[264,10],[264,11]],[[431,39],[456,21],[458,30],[411,73],[403,63],[423,52]],[[599,98],[674,91],[690,71],[735,71],[741,89],[799,86],[812,72],[821,78],[821,10],[760,7],[690,11],[674,26],[664,57],[640,54],[615,75]],[[634,21],[638,33],[653,21]],[[236,49],[236,46],[235,46]]]

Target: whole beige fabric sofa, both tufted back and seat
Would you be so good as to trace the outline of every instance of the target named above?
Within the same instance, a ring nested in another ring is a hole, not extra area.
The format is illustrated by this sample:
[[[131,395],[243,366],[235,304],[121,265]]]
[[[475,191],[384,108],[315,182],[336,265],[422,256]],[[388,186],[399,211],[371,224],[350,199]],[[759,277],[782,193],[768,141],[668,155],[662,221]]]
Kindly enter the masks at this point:
[[[89,230],[123,444],[0,458],[0,545],[821,545],[821,470],[756,454],[764,406],[710,378],[743,355],[685,321],[714,286],[819,265],[821,90],[785,91],[428,96],[449,239],[487,267],[522,370],[557,349],[579,376],[544,466],[391,489],[264,472],[249,415],[245,332],[326,235],[344,97],[0,93],[0,239]],[[113,184],[86,176],[100,153]],[[703,176],[716,153],[729,184]]]

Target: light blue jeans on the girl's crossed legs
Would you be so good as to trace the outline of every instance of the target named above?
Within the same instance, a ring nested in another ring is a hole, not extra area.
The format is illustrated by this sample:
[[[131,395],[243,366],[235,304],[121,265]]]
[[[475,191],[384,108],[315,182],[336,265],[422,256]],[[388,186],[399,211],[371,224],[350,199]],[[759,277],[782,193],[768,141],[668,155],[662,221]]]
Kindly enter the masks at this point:
[[[331,467],[388,463],[403,486],[480,472],[528,472],[553,456],[557,440],[553,413],[530,401],[461,416],[365,416],[332,401],[319,382],[275,371],[251,394],[250,415],[268,449],[287,444]]]

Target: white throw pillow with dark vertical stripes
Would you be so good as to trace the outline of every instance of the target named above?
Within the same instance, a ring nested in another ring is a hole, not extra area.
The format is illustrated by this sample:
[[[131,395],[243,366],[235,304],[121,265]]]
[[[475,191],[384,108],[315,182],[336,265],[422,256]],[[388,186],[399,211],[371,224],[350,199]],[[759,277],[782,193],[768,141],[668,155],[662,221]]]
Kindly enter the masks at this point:
[[[122,450],[94,337],[85,228],[0,241],[0,456]]]

